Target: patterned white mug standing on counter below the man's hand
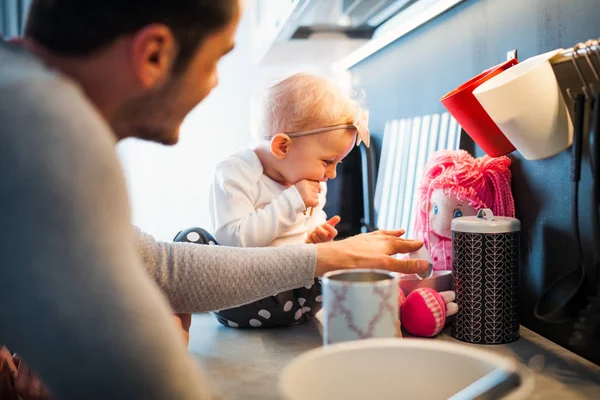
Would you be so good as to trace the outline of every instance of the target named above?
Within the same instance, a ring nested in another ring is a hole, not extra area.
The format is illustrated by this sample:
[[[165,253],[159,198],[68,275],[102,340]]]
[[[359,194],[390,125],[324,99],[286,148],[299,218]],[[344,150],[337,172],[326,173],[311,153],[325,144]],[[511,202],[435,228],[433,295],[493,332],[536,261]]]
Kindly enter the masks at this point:
[[[399,279],[396,273],[369,269],[325,274],[323,344],[401,336]]]

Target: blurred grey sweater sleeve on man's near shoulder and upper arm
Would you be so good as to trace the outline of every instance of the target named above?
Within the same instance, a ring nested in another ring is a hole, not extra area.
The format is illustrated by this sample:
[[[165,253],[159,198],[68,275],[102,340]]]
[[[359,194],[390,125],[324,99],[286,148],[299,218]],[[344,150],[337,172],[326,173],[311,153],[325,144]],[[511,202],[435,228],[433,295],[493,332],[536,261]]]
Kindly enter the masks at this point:
[[[0,343],[57,399],[208,399],[135,248],[114,138],[56,79],[0,82]]]

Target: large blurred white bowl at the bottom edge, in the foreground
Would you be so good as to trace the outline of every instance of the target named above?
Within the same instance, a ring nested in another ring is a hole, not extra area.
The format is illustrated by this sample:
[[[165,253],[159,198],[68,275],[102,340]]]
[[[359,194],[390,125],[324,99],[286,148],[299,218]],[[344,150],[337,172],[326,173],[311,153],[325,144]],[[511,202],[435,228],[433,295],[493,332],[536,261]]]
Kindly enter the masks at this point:
[[[283,370],[279,388],[286,400],[442,400],[499,370],[518,371],[513,359],[464,344],[379,338],[304,353]],[[526,398],[532,389],[521,375],[505,398]]]

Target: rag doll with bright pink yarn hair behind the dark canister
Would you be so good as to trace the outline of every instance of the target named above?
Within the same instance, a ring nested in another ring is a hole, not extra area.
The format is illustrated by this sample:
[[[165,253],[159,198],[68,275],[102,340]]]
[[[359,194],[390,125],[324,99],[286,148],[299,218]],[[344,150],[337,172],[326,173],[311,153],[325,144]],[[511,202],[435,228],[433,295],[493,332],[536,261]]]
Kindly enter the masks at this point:
[[[454,218],[477,215],[482,208],[490,208],[498,216],[515,216],[510,181],[508,157],[474,158],[464,150],[433,155],[418,189],[415,232],[424,243],[434,271],[452,270]],[[451,291],[419,288],[406,299],[403,296],[401,293],[402,325],[416,336],[436,335],[446,317],[458,311]]]

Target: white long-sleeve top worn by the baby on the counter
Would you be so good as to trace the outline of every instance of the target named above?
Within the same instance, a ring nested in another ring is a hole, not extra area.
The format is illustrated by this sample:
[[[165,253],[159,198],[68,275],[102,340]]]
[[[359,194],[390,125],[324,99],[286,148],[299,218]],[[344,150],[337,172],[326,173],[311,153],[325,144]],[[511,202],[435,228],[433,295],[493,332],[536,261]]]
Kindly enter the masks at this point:
[[[303,215],[304,201],[295,186],[285,186],[264,174],[256,153],[246,147],[221,161],[210,187],[210,215],[221,245],[273,247],[304,243],[326,222],[327,186],[321,184],[319,206]]]

